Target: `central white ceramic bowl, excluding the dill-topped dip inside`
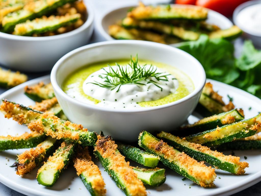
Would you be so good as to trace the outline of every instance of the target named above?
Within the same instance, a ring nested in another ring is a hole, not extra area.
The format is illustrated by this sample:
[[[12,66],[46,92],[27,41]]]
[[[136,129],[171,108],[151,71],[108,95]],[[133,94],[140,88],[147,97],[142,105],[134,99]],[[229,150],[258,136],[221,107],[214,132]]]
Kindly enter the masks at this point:
[[[61,85],[68,74],[98,61],[128,59],[130,55],[173,65],[192,79],[195,90],[188,96],[162,106],[149,108],[113,109],[90,105],[73,99],[63,92]],[[82,124],[90,131],[104,131],[114,139],[135,141],[139,132],[170,131],[180,126],[196,107],[206,75],[201,64],[188,53],[168,45],[117,40],[98,42],[75,49],[64,55],[51,72],[51,83],[65,115],[70,121]]]

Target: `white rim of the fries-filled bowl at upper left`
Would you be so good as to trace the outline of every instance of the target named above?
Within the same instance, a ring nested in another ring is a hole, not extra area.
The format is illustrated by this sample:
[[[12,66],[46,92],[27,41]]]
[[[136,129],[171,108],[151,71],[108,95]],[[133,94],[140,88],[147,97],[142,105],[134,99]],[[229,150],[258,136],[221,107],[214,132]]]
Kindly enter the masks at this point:
[[[84,24],[82,26],[80,26],[72,31],[58,34],[58,35],[44,36],[44,37],[18,36],[18,35],[0,32],[0,38],[12,39],[12,40],[16,40],[16,41],[49,41],[49,40],[63,39],[63,38],[67,38],[70,36],[74,36],[82,31],[84,31],[85,29],[89,28],[94,21],[94,11],[92,9],[92,6],[90,5],[90,3],[87,3],[87,1],[85,1],[85,0],[84,0],[84,4],[86,6],[86,11],[88,14],[87,20],[84,22]]]

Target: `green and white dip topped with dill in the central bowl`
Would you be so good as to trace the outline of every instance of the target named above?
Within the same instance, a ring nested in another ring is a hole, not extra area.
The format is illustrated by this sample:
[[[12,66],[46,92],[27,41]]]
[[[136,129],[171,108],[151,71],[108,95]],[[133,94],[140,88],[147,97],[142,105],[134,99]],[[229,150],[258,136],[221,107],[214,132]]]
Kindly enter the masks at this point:
[[[111,74],[119,77],[111,77]],[[124,74],[133,77],[133,82],[122,82],[128,80]],[[150,76],[146,78],[146,74]],[[148,60],[138,60],[138,64],[133,65],[130,60],[114,60],[76,70],[65,79],[62,89],[74,99],[92,105],[135,109],[179,100],[194,90],[194,84],[185,73],[170,65]]]

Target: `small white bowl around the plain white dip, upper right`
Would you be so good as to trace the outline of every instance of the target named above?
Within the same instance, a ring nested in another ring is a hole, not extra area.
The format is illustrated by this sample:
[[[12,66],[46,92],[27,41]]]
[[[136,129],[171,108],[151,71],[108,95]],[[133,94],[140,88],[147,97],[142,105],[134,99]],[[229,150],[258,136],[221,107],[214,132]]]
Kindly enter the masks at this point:
[[[233,21],[234,21],[235,25],[237,25],[239,28],[241,28],[244,31],[244,34],[243,34],[244,37],[251,39],[253,41],[254,45],[261,48],[261,32],[260,33],[251,32],[250,30],[245,28],[244,25],[239,23],[237,20],[237,16],[242,9],[244,9],[250,5],[254,5],[254,4],[258,4],[258,3],[261,3],[261,0],[252,0],[252,1],[247,1],[245,3],[240,4],[233,12]]]

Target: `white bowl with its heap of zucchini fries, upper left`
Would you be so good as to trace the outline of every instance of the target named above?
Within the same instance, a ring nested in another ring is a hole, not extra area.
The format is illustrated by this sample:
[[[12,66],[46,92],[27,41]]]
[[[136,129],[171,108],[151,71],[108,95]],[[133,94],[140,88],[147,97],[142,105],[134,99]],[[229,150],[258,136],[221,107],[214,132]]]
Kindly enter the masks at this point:
[[[6,1],[0,9],[0,64],[5,67],[48,71],[92,35],[94,13],[86,0]]]

